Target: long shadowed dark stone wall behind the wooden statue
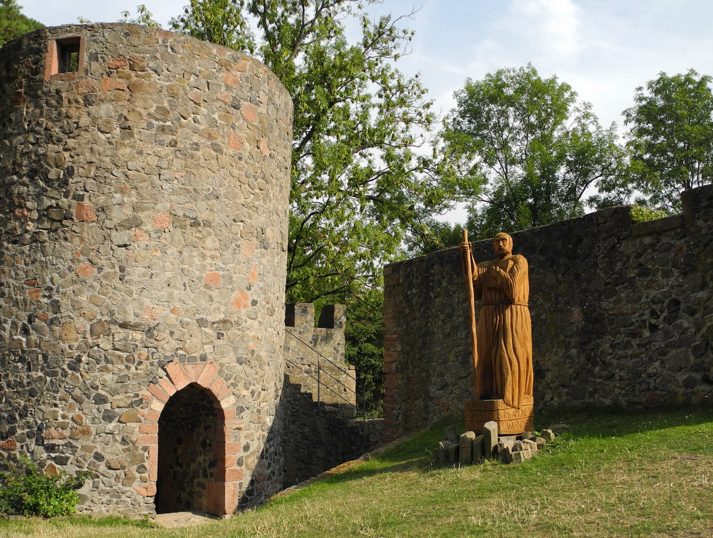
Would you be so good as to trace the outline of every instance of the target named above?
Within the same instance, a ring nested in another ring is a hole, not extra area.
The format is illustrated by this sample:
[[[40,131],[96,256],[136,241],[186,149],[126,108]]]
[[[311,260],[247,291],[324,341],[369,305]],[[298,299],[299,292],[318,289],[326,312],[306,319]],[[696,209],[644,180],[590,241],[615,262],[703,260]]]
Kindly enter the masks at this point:
[[[535,408],[692,405],[713,393],[713,186],[683,215],[630,206],[513,233],[530,268]],[[473,243],[493,259],[491,240]],[[384,268],[387,438],[463,412],[471,336],[458,248]]]

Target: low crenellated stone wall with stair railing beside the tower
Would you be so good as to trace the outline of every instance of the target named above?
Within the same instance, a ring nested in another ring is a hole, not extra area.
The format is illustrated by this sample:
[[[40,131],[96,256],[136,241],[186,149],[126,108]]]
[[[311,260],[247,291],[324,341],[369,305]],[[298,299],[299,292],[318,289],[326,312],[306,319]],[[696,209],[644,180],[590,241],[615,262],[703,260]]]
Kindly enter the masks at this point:
[[[325,305],[314,327],[314,305],[285,310],[285,486],[354,460],[381,440],[378,421],[354,420],[356,372],[344,362],[344,305]],[[319,373],[318,373],[319,370]],[[319,377],[319,389],[317,378]]]

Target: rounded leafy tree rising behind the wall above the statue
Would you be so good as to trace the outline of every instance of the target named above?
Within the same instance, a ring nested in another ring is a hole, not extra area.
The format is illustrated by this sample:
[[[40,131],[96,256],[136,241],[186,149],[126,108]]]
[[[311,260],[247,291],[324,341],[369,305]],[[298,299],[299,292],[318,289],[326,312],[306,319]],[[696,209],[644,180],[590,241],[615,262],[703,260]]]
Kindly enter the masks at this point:
[[[567,83],[530,64],[468,79],[455,97],[441,136],[476,238],[580,215],[585,191],[620,168],[615,125],[602,128]]]

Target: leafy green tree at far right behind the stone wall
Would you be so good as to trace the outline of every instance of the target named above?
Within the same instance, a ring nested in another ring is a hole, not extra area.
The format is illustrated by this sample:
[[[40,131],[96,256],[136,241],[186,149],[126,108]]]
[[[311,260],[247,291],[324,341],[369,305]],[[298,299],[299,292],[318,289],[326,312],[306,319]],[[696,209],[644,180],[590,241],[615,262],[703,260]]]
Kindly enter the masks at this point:
[[[713,93],[710,76],[693,69],[637,88],[635,105],[624,111],[630,125],[632,186],[653,208],[675,213],[681,191],[709,183],[713,163]]]

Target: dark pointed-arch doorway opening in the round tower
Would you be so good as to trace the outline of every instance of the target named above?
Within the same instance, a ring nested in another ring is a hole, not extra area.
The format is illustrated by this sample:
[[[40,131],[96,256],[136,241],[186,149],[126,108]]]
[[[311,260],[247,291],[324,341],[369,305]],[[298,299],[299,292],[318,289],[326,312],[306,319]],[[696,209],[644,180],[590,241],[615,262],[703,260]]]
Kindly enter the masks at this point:
[[[208,512],[219,419],[214,398],[195,384],[175,392],[158,420],[156,512]]]

